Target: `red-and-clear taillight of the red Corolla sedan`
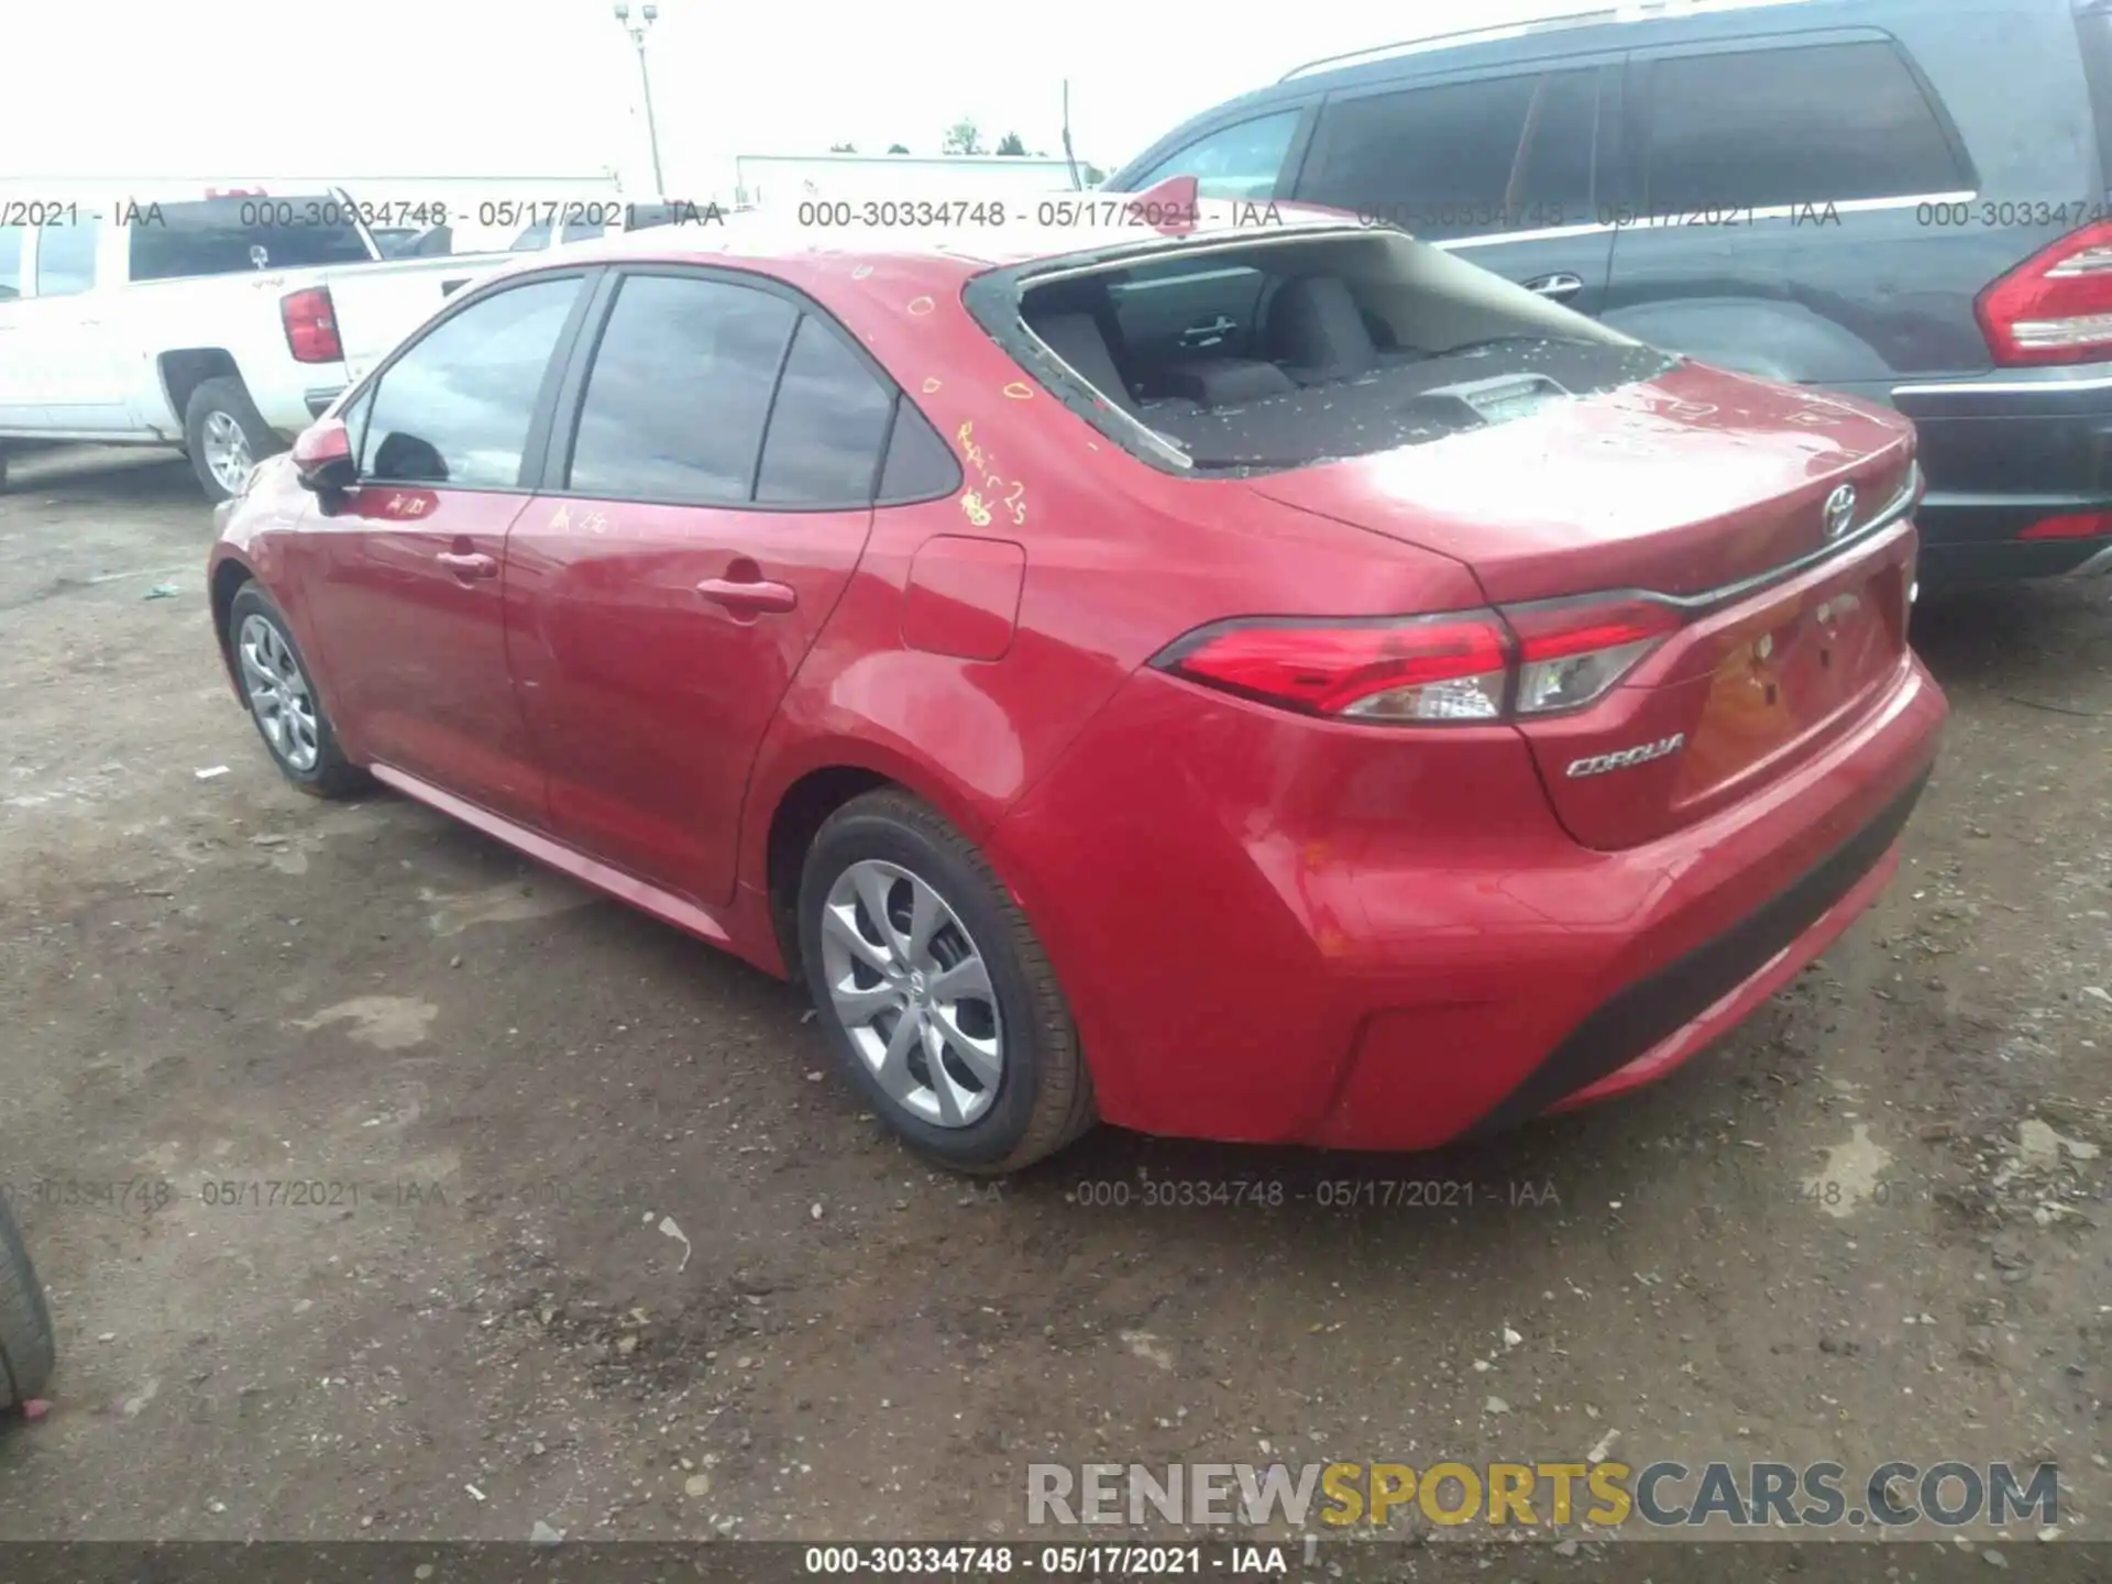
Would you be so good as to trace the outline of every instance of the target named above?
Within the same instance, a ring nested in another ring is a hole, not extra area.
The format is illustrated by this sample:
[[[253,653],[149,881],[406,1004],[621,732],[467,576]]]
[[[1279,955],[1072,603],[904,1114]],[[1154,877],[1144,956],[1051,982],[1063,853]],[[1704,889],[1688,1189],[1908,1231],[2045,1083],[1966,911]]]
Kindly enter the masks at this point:
[[[1202,627],[1153,665],[1339,720],[1506,720],[1599,699],[1679,623],[1673,606],[1637,598],[1400,619],[1259,617]]]

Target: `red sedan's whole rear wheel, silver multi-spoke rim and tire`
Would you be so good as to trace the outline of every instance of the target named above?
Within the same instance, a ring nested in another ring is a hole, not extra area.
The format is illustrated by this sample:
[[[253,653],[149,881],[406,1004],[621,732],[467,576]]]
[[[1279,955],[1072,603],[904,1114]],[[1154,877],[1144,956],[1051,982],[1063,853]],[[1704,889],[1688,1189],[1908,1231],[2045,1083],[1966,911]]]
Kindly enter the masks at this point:
[[[807,853],[798,925],[830,1043],[912,1147],[995,1174],[1092,1126],[1092,1081],[1041,942],[938,811],[870,792],[830,815]]]

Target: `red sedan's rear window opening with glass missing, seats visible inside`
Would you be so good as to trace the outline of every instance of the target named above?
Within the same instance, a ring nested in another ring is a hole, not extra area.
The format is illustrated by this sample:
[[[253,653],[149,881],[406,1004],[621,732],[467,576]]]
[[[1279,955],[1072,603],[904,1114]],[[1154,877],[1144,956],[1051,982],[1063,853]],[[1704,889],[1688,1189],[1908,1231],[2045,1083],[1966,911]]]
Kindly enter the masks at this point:
[[[969,304],[1045,386],[1181,469],[1276,471],[1417,446],[1675,361],[1390,230],[1058,264],[1060,279],[1035,285],[1048,272],[1016,272],[1010,323],[988,287]]]

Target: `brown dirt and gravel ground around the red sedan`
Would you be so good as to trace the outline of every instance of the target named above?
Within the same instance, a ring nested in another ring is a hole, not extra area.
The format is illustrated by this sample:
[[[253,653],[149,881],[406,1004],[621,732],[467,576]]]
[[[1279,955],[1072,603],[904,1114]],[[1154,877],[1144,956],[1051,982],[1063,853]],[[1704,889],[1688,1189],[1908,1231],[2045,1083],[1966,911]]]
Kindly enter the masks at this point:
[[[0,1183],[61,1328],[0,1535],[1016,1535],[1037,1459],[1618,1432],[2055,1457],[2112,1538],[2112,583],[1922,612],[1956,716],[1899,883],[1654,1092],[1417,1159],[1102,1130],[993,1193],[790,988],[287,790],[209,532],[156,456],[0,496]],[[1284,1202],[1140,1202],[1229,1178]]]

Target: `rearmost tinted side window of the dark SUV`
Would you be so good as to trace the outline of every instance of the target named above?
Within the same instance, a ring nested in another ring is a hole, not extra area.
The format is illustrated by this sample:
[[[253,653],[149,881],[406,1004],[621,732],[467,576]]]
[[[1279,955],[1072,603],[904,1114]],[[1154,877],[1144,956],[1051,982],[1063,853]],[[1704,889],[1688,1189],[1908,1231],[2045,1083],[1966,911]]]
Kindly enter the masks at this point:
[[[1658,59],[1647,84],[1645,182],[1658,215],[1970,188],[1888,42]]]

